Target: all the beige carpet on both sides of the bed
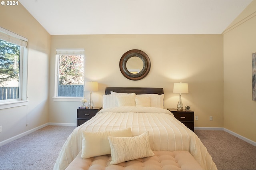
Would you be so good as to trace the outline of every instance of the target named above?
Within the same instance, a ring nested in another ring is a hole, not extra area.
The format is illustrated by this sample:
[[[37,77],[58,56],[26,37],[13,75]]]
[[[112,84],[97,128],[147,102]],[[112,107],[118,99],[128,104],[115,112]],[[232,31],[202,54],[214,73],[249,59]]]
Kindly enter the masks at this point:
[[[52,170],[75,127],[47,126],[0,146],[0,170]],[[256,170],[256,146],[224,131],[195,130],[220,170]]]

